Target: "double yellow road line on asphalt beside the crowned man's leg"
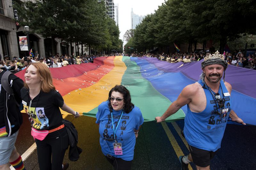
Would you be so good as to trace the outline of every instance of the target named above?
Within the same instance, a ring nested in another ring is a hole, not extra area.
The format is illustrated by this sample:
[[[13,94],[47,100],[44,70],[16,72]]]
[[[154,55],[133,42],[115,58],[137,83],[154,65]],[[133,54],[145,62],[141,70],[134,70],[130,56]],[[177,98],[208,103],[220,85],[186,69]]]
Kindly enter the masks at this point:
[[[181,150],[178,142],[174,138],[174,136],[173,136],[171,130],[169,129],[169,127],[167,126],[167,124],[165,122],[161,122],[161,124],[164,128],[164,131],[165,131],[167,137],[169,138],[169,140],[171,142],[171,145],[172,145],[177,157],[179,158],[180,156],[184,155],[183,151]],[[188,169],[193,170],[192,167],[190,166],[190,164],[188,165]]]

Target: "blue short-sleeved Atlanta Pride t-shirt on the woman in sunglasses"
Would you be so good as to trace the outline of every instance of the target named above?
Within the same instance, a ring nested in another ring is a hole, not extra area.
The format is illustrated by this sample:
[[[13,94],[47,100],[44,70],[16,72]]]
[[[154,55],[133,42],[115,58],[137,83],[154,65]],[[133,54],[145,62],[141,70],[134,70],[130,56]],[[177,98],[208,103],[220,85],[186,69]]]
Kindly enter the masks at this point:
[[[115,128],[119,117],[122,114],[122,111],[123,110],[113,110],[112,112]],[[134,155],[134,146],[136,142],[133,130],[138,130],[140,125],[142,125],[144,122],[140,109],[134,106],[130,113],[124,112],[121,121],[117,127],[116,139],[118,143],[122,144],[123,155],[114,154],[113,143],[115,141],[104,140],[105,138],[114,137],[114,130],[112,126],[111,114],[108,107],[108,101],[102,102],[99,105],[96,118],[96,124],[100,124],[99,132],[102,153],[104,155],[110,154],[116,158],[122,158],[127,161],[132,160]],[[107,135],[105,135],[105,133],[107,133]]]

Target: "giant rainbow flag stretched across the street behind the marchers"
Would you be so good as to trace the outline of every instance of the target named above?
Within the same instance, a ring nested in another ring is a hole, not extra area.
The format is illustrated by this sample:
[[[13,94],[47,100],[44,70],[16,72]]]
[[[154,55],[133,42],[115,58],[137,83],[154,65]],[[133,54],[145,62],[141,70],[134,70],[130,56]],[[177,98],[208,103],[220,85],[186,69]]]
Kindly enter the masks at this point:
[[[201,62],[168,63],[148,57],[110,56],[50,71],[65,103],[86,116],[95,117],[98,105],[107,101],[109,90],[121,84],[130,90],[132,103],[140,108],[145,121],[153,121],[184,87],[198,81]],[[22,70],[16,75],[24,80],[24,73]],[[254,70],[229,65],[225,80],[233,86],[232,109],[245,123],[256,125],[256,88],[252,88],[256,80],[252,77],[256,77]],[[183,119],[187,110],[186,105],[181,107],[167,121]]]

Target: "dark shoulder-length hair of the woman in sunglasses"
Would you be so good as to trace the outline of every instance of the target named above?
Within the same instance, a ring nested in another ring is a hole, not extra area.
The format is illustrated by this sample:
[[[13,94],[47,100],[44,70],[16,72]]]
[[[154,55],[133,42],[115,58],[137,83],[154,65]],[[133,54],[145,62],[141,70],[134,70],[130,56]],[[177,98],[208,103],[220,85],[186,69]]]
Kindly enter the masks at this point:
[[[108,107],[111,110],[113,110],[109,97],[111,97],[111,94],[113,91],[119,92],[124,96],[124,112],[125,113],[130,113],[132,111],[132,109],[134,108],[134,104],[131,102],[131,95],[130,95],[130,91],[127,90],[124,86],[122,85],[116,85],[115,87],[113,87],[109,93],[108,93]]]

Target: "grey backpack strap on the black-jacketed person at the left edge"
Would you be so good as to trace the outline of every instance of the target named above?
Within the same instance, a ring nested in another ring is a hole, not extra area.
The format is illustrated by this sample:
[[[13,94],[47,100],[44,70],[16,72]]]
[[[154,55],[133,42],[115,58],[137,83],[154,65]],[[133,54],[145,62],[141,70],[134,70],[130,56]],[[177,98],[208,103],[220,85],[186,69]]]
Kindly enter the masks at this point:
[[[20,104],[16,101],[15,97],[14,97],[14,93],[13,93],[13,90],[12,90],[12,87],[10,86],[9,84],[9,81],[8,81],[8,78],[10,76],[10,74],[13,74],[12,72],[10,71],[5,71],[3,76],[2,76],[2,79],[1,79],[1,84],[2,84],[2,87],[4,88],[4,90],[10,95],[10,96],[13,96],[14,98],[14,101],[16,103],[16,105],[20,108]],[[18,77],[17,77],[18,78]],[[15,78],[16,79],[16,78]],[[13,80],[15,80],[13,79]],[[11,82],[13,81],[11,79]],[[20,108],[21,110],[23,108]]]

